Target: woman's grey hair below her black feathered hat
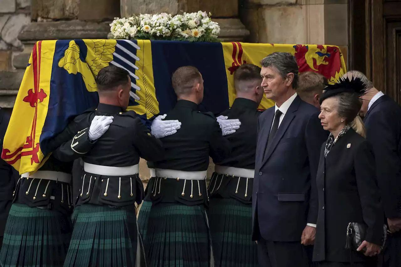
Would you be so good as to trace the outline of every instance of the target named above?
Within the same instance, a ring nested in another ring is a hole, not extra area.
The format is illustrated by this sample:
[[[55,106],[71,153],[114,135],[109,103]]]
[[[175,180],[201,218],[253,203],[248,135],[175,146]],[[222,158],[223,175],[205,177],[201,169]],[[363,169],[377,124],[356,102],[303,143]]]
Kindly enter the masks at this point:
[[[345,92],[334,97],[337,98],[338,116],[345,118],[345,124],[350,124],[358,115],[360,107],[362,106],[358,95]]]

